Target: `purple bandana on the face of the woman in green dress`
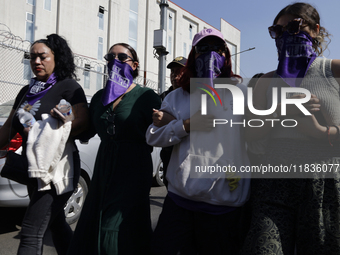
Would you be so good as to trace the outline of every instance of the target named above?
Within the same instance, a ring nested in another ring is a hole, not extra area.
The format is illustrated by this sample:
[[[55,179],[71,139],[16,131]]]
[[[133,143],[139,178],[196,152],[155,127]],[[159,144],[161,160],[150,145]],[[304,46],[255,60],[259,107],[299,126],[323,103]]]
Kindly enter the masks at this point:
[[[109,62],[107,67],[109,69],[109,79],[102,95],[104,106],[123,95],[133,82],[133,70],[129,64],[115,59]]]

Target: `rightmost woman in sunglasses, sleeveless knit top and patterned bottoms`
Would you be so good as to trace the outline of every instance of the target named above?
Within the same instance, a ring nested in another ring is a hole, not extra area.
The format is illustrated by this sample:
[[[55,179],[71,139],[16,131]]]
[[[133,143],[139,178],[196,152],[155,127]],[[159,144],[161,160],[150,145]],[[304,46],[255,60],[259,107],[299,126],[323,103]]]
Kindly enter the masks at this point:
[[[259,79],[254,107],[269,109],[273,88],[303,88],[311,93],[303,104],[311,115],[294,105],[287,105],[284,115],[279,96],[274,113],[248,114],[249,119],[296,121],[296,127],[289,128],[267,123],[247,127],[246,136],[254,141],[269,134],[263,165],[299,171],[252,179],[252,222],[242,254],[340,254],[340,173],[331,169],[340,163],[340,60],[318,57],[329,34],[308,3],[283,8],[269,34],[276,43],[278,66]]]

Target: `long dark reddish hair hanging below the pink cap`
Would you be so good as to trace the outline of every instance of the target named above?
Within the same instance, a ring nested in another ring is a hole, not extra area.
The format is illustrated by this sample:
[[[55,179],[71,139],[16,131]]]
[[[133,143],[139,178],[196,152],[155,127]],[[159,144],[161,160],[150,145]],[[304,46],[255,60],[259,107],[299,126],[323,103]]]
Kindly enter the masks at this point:
[[[231,77],[237,77],[242,79],[241,76],[234,74],[232,71],[231,66],[231,55],[230,51],[228,49],[228,46],[225,45],[225,62],[222,67],[222,73],[219,77],[221,78],[231,78]],[[191,51],[189,53],[188,61],[186,65],[181,69],[181,72],[183,73],[181,78],[178,81],[178,85],[183,88],[183,90],[190,93],[190,78],[197,77],[196,73],[196,58],[195,58],[195,47],[191,48]]]

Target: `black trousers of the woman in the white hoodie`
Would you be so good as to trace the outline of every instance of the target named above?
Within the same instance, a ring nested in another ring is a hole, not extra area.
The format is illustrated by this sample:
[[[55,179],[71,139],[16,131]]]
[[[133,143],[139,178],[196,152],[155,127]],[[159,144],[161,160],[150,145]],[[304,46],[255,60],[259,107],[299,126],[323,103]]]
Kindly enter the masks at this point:
[[[166,197],[152,240],[152,254],[238,254],[244,237],[243,208],[211,215],[184,209]]]

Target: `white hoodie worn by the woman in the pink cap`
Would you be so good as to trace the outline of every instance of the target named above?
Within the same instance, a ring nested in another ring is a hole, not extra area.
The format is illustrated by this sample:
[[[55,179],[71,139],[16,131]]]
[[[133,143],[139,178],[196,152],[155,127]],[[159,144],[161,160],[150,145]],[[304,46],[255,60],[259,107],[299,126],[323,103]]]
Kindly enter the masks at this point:
[[[238,84],[237,87],[246,95],[246,86]],[[162,111],[176,119],[160,128],[151,124],[146,140],[152,146],[174,145],[166,175],[170,192],[194,201],[238,207],[249,198],[250,175],[232,173],[229,169],[239,171],[242,166],[249,166],[243,124],[235,124],[243,123],[245,117],[232,114],[233,98],[229,90],[216,91],[223,106],[215,105],[208,97],[208,114],[227,120],[227,124],[216,125],[209,132],[187,133],[183,120],[200,110],[202,91],[189,94],[179,88],[169,93],[161,106]],[[206,172],[207,169],[210,170]]]

